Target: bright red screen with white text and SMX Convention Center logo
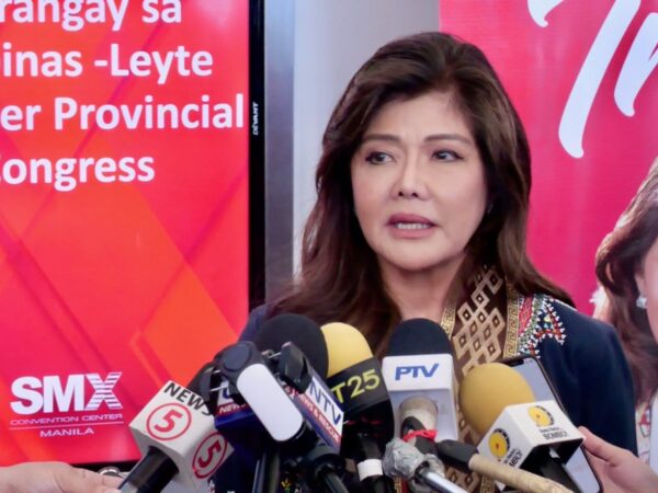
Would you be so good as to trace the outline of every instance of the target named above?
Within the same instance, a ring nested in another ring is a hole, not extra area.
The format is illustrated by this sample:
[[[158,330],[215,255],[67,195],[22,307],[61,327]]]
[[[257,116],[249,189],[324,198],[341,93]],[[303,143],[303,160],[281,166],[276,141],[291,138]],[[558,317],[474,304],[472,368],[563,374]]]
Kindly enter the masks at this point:
[[[139,457],[248,308],[248,1],[0,5],[0,465]]]

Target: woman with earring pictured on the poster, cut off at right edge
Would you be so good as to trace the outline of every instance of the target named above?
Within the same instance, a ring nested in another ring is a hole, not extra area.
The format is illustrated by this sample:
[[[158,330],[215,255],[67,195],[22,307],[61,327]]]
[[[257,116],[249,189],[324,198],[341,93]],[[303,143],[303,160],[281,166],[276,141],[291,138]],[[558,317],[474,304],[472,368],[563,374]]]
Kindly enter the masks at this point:
[[[597,252],[594,317],[617,329],[635,385],[639,457],[658,471],[658,160]]]

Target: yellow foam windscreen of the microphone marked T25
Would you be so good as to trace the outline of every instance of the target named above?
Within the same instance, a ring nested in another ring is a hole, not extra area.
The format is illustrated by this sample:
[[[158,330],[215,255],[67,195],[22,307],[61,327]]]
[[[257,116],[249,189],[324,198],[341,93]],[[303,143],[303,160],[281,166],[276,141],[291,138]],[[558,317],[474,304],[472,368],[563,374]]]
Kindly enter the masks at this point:
[[[359,330],[342,322],[331,322],[320,328],[325,336],[329,367],[327,378],[373,357],[367,341]]]

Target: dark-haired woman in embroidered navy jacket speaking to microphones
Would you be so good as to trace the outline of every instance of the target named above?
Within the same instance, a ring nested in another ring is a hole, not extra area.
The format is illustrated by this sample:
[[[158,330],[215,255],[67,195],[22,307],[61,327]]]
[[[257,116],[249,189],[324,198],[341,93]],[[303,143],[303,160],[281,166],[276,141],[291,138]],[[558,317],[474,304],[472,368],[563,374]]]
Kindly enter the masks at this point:
[[[634,450],[613,329],[571,309],[525,252],[530,182],[525,133],[477,47],[441,33],[385,45],[330,117],[300,272],[242,337],[265,317],[302,313],[360,328],[383,356],[399,321],[428,318],[451,337],[458,379],[485,362],[538,355],[571,420]],[[457,475],[475,491],[477,478]]]

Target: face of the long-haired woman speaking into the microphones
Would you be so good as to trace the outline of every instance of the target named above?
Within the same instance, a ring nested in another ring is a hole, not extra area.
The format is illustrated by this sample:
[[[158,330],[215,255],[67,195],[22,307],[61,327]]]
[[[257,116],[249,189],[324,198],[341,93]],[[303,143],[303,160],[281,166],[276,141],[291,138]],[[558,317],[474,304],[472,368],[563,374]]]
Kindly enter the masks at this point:
[[[458,265],[487,204],[485,169],[451,93],[392,101],[351,162],[355,213],[383,270]]]

